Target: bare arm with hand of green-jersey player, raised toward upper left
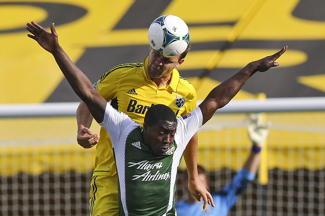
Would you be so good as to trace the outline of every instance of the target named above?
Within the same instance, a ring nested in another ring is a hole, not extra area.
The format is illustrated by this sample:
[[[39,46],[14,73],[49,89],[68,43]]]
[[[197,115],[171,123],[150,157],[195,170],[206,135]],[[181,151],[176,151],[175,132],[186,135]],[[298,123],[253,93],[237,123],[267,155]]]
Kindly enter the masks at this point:
[[[51,32],[36,22],[27,23],[26,29],[32,33],[32,35],[28,34],[28,37],[36,40],[41,47],[52,53],[73,91],[85,102],[94,119],[102,122],[107,101],[97,93],[88,77],[71,61],[59,45],[54,23],[51,24]]]

